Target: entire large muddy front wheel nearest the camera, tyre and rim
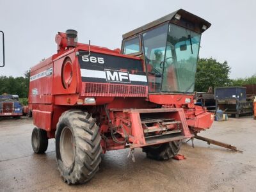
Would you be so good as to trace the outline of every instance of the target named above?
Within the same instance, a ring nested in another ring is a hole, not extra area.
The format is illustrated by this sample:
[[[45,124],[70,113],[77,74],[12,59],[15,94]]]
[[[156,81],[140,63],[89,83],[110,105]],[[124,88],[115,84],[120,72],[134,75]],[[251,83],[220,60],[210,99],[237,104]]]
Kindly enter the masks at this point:
[[[99,170],[102,148],[99,126],[87,112],[65,111],[56,130],[56,158],[68,184],[83,184]]]

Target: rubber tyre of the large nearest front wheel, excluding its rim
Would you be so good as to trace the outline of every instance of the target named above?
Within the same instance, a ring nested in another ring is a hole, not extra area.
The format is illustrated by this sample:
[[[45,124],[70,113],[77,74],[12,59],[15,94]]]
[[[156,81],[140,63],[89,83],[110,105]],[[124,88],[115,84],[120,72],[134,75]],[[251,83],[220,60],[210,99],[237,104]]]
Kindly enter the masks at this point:
[[[68,174],[58,164],[61,177],[63,177],[63,180],[67,184],[83,184],[92,179],[93,175],[99,170],[99,164],[101,162],[100,154],[102,154],[99,126],[95,124],[95,119],[92,118],[90,113],[72,109],[65,111],[60,116],[56,136],[60,135],[58,130],[61,129],[63,122],[68,122],[70,127],[72,127],[71,129],[74,133],[76,143],[76,156],[74,169]]]

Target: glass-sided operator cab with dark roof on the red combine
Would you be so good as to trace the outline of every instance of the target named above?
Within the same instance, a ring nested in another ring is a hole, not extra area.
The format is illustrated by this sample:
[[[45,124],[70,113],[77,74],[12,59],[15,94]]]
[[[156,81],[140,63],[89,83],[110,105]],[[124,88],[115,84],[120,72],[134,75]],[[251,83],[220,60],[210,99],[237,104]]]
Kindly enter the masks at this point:
[[[209,22],[178,10],[123,35],[122,54],[140,56],[151,93],[193,93],[201,34]]]

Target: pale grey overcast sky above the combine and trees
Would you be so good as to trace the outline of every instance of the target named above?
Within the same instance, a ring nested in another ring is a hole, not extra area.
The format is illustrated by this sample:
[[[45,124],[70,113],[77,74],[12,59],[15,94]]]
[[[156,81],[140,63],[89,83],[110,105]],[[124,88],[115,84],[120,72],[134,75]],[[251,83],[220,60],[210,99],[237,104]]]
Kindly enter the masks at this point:
[[[228,61],[230,77],[256,74],[256,1],[12,1],[0,0],[6,67],[0,76],[22,76],[56,53],[54,37],[78,31],[79,42],[120,48],[122,34],[182,8],[211,22],[202,35],[200,57]],[[2,59],[2,56],[1,56]]]

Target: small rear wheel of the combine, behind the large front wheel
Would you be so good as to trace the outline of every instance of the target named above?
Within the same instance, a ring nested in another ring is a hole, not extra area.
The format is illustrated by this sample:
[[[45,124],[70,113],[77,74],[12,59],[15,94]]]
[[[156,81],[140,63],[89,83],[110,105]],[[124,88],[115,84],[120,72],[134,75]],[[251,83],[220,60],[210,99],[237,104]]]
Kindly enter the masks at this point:
[[[31,144],[36,154],[43,154],[48,147],[47,132],[44,129],[35,127],[31,135]]]

